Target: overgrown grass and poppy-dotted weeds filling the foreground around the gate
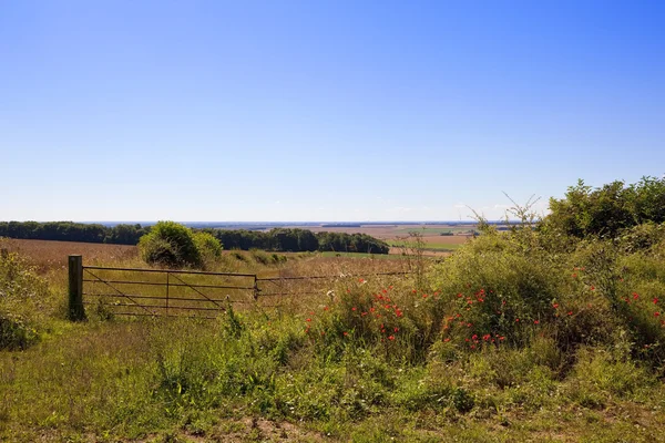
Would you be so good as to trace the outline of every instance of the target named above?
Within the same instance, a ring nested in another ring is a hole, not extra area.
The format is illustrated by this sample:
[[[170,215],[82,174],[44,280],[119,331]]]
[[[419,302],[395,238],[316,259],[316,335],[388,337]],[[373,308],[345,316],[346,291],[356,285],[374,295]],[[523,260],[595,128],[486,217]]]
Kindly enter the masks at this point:
[[[0,440],[664,441],[662,247],[600,261],[606,245],[536,241],[481,236],[443,261],[228,251],[212,269],[350,277],[216,320],[81,323],[60,265],[12,254],[0,318],[34,340],[0,351]],[[422,278],[361,277],[409,266]]]

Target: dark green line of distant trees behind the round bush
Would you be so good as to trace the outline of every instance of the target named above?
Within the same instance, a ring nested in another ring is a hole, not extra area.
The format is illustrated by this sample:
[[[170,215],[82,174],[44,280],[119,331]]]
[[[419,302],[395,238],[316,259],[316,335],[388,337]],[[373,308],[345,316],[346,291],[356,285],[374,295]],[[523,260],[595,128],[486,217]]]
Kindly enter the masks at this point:
[[[84,224],[73,222],[0,222],[0,237],[34,240],[60,240],[137,245],[150,226]],[[313,233],[308,229],[275,228],[269,231],[194,229],[217,238],[225,249],[264,249],[274,251],[337,251],[388,254],[390,247],[367,234]]]

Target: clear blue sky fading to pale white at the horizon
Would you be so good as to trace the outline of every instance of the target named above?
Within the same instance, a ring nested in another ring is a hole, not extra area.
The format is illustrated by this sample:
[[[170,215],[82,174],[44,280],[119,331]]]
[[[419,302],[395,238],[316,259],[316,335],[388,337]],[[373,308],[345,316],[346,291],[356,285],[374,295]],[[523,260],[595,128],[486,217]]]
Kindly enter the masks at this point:
[[[0,0],[0,220],[459,220],[665,173],[665,2]]]

